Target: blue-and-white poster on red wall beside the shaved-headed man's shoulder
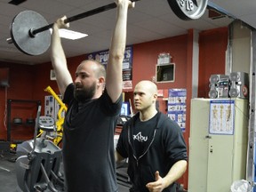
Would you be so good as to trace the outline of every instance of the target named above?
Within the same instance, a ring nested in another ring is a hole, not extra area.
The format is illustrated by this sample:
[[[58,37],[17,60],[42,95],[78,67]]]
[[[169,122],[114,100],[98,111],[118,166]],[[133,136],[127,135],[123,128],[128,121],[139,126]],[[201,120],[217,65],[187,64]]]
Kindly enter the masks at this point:
[[[182,132],[186,128],[186,89],[169,89],[168,116],[180,125]]]

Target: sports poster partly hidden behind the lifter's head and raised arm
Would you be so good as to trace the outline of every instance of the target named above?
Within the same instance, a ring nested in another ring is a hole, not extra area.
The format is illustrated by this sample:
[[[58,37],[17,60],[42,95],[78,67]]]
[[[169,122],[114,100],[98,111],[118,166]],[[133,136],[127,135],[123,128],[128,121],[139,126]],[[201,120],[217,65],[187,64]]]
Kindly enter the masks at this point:
[[[123,61],[123,89],[132,88],[132,45],[125,47],[124,61]],[[88,54],[87,59],[98,60],[103,65],[107,66],[108,63],[108,50],[101,52],[92,52]]]

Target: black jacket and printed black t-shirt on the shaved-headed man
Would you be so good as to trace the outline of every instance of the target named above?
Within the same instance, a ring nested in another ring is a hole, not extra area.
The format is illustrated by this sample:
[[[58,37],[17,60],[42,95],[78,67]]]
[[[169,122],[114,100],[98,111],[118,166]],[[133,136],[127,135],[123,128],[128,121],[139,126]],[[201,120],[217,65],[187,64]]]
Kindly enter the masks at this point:
[[[129,158],[127,173],[132,181],[132,190],[147,192],[146,185],[148,182],[156,180],[156,171],[160,173],[161,177],[164,177],[173,164],[180,160],[187,160],[188,155],[179,124],[162,113],[157,113],[151,119],[152,121],[148,122],[138,122],[139,118],[140,114],[138,113],[124,124],[116,151],[124,158]],[[136,131],[138,123],[140,130]],[[150,141],[143,142],[141,148],[138,147],[141,142],[133,140],[134,137],[140,138],[140,141],[146,140],[147,136]],[[138,146],[135,147],[136,142]],[[171,191],[176,191],[174,183],[163,190],[163,192]]]

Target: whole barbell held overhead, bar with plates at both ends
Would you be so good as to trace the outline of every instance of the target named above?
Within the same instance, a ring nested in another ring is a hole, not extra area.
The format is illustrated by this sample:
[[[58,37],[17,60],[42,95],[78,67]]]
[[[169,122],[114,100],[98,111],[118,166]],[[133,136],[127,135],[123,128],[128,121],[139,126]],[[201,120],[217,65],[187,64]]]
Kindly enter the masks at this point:
[[[140,0],[133,0],[137,2]],[[205,12],[208,0],[167,0],[172,11],[181,20],[199,19]],[[64,20],[64,23],[80,20],[85,17],[106,12],[116,8],[116,3],[107,4],[88,12],[77,14]],[[14,44],[20,52],[28,55],[40,55],[46,52],[51,44],[52,24],[44,19],[42,15],[34,11],[23,11],[18,13],[12,20],[10,26],[11,37],[6,39],[8,44]]]

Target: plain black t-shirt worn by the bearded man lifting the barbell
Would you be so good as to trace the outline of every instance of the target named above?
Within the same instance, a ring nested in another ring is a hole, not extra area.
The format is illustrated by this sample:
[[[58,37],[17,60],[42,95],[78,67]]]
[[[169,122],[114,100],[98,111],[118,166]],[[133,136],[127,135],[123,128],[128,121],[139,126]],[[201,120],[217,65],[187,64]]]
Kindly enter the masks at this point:
[[[68,192],[117,191],[114,133],[122,97],[112,103],[108,92],[80,105],[68,85],[63,132],[63,163]]]

